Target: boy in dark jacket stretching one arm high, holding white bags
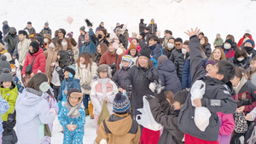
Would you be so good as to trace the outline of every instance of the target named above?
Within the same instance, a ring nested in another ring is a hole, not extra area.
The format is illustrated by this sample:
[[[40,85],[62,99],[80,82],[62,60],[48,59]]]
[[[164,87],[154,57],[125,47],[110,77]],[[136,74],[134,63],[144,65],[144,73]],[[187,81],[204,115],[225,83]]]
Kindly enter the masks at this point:
[[[189,93],[187,101],[181,107],[178,128],[185,133],[185,143],[211,143],[218,144],[219,121],[216,112],[224,112],[225,114],[236,112],[236,102],[227,90],[227,83],[234,78],[236,69],[234,64],[227,60],[218,60],[212,66],[209,72],[205,71],[203,59],[201,56],[200,43],[197,37],[199,30],[191,29],[191,32],[185,32],[189,35],[190,50],[190,70],[191,70],[191,87],[197,80],[201,80],[205,84],[204,94],[201,98],[191,101]],[[202,85],[203,86],[203,85]],[[202,87],[200,87],[201,90]],[[195,107],[206,107],[210,112],[209,124],[204,131],[198,129],[195,125]]]

